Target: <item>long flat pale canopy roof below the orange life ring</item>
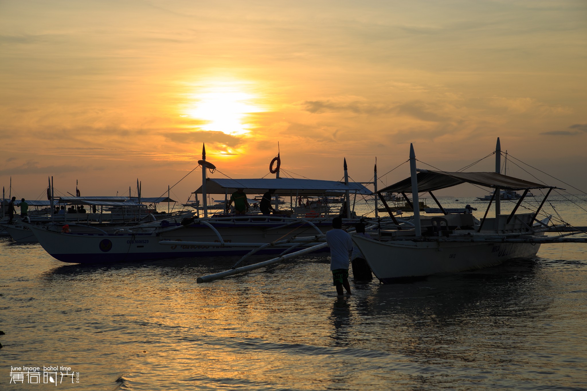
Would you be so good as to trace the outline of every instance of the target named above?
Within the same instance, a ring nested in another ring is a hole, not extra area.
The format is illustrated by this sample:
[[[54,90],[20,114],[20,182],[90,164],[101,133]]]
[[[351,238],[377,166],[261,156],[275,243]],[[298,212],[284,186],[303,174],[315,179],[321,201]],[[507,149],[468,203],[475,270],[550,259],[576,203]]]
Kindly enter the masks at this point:
[[[237,189],[246,189],[249,193],[262,194],[269,189],[275,189],[275,195],[342,195],[345,191],[357,194],[369,195],[371,191],[358,182],[321,181],[319,179],[297,178],[262,178],[262,179],[215,179],[207,178],[206,193],[228,194]],[[198,188],[194,194],[201,194],[202,188]]]

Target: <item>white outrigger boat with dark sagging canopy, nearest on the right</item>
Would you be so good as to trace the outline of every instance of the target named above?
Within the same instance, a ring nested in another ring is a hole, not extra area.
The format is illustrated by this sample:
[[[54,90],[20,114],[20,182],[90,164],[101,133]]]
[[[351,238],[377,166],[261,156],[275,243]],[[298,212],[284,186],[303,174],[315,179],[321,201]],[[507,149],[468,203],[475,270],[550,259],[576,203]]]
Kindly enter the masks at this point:
[[[562,234],[572,229],[565,224],[548,225],[548,219],[537,219],[546,198],[556,187],[499,174],[500,149],[498,138],[495,172],[444,172],[417,169],[414,148],[410,145],[410,177],[381,189],[379,193],[411,193],[414,198],[414,227],[379,229],[373,232],[372,237],[352,236],[380,281],[391,283],[398,278],[473,270],[495,266],[512,258],[534,257],[541,243],[587,242],[585,238],[566,237],[582,233],[582,230],[574,229],[574,233]],[[432,193],[460,183],[495,189],[481,221],[470,213],[448,213]],[[537,210],[517,214],[531,189],[548,189],[548,192]],[[498,195],[502,190],[524,191],[507,215],[501,214]],[[419,192],[429,192],[444,215],[420,218]],[[487,217],[493,202],[495,217]],[[545,236],[546,232],[559,234]]]

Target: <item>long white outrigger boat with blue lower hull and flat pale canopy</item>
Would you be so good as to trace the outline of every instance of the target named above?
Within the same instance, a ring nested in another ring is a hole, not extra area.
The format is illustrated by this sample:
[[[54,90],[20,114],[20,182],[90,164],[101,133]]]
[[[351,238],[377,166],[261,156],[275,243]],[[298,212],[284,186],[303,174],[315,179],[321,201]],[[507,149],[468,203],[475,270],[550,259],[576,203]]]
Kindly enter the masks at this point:
[[[243,255],[251,247],[259,254],[275,254],[289,251],[292,247],[308,247],[311,243],[282,246],[283,240],[294,240],[296,236],[322,234],[330,229],[332,217],[328,213],[313,213],[302,216],[278,209],[273,215],[230,215],[220,213],[208,215],[207,193],[222,194],[226,197],[238,188],[248,194],[264,193],[275,189],[276,197],[307,195],[344,195],[349,205],[350,194],[369,195],[372,193],[362,183],[348,182],[345,161],[345,182],[318,181],[312,179],[214,179],[207,178],[207,169],[215,166],[203,159],[203,181],[196,193],[202,195],[202,213],[189,219],[166,219],[132,227],[124,227],[114,233],[108,232],[54,232],[34,225],[28,225],[39,243],[53,257],[70,263],[122,263],[167,259],[176,257],[201,257]],[[293,210],[292,212],[295,212]],[[346,222],[354,222],[352,210],[347,208]],[[287,248],[284,248],[287,247]]]

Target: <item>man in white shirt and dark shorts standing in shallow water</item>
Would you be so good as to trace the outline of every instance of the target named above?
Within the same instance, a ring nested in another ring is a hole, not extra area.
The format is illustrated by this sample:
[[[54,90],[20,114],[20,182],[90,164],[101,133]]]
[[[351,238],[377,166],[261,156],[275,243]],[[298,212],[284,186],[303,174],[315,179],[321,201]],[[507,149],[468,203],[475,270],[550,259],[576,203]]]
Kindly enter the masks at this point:
[[[326,244],[330,247],[330,270],[336,287],[336,293],[342,296],[345,287],[350,295],[349,285],[349,252],[353,250],[353,242],[350,235],[342,229],[342,218],[332,219],[332,228],[326,232]]]

